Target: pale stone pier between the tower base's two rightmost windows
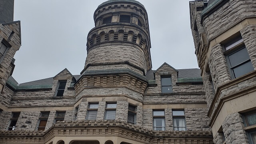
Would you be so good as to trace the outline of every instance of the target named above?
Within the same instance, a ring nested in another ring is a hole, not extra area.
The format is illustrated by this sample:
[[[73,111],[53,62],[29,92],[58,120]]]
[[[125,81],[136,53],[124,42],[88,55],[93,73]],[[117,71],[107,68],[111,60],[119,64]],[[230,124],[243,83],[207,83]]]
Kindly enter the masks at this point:
[[[116,102],[116,120],[126,121],[128,116],[128,102],[117,101]]]

